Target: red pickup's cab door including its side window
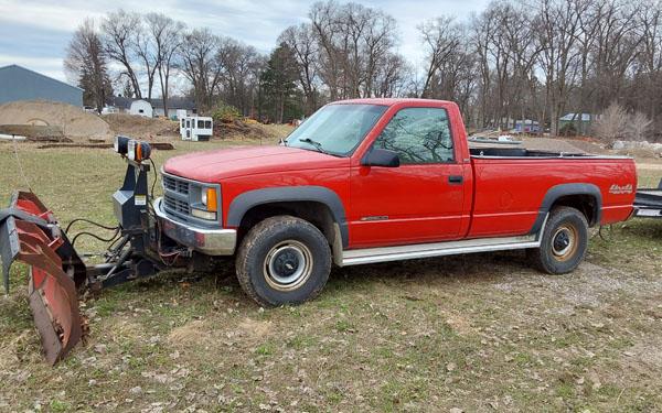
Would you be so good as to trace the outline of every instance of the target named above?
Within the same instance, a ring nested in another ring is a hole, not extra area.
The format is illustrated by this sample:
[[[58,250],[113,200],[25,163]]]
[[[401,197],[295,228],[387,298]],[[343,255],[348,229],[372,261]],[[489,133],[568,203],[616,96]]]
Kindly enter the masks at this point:
[[[446,109],[401,109],[373,148],[396,152],[401,165],[352,166],[351,248],[460,238],[467,185]]]

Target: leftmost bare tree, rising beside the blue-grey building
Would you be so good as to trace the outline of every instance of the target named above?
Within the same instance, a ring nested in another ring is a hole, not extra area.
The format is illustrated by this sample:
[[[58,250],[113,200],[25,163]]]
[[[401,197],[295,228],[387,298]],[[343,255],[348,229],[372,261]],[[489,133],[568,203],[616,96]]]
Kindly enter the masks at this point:
[[[93,102],[99,113],[113,94],[106,58],[94,21],[86,19],[70,41],[64,69],[84,89],[84,100]]]

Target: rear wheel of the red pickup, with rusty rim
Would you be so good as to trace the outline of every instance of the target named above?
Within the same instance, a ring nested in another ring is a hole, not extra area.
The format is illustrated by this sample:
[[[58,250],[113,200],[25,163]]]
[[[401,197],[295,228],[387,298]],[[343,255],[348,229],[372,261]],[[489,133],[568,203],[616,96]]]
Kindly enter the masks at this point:
[[[541,247],[528,250],[533,264],[548,274],[565,274],[577,268],[588,248],[588,222],[579,210],[557,207],[552,210]]]

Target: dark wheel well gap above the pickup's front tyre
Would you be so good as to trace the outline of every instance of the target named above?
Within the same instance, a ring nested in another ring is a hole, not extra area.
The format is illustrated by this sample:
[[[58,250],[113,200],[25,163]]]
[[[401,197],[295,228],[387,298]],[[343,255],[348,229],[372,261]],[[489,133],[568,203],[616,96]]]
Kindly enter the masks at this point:
[[[327,205],[314,200],[280,202],[254,206],[242,217],[237,241],[241,242],[256,224],[278,215],[290,215],[307,220],[322,232],[332,248],[335,248],[339,241],[342,246],[342,241],[338,239],[340,235],[335,231],[337,222],[333,219],[331,209]]]

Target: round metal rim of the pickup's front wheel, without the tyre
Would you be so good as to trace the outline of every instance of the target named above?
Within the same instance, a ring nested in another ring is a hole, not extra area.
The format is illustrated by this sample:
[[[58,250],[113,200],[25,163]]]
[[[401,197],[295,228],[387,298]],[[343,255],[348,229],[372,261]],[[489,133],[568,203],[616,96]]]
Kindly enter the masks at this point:
[[[299,241],[279,242],[269,250],[265,258],[265,281],[275,290],[297,290],[306,283],[311,272],[312,253]]]

